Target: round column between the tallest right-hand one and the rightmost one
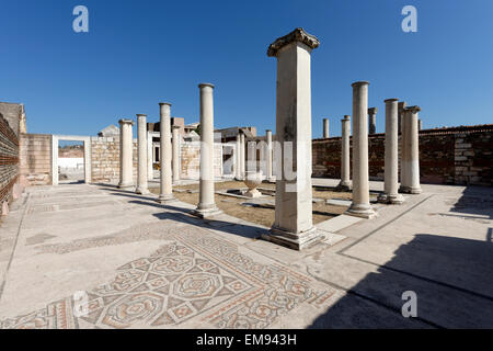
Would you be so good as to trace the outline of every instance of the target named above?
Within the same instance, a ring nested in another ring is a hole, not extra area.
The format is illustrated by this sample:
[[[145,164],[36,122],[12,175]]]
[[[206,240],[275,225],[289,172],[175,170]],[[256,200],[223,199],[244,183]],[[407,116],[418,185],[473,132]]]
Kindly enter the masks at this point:
[[[399,194],[399,134],[398,134],[398,99],[386,100],[386,163],[385,191],[378,202],[402,204],[404,197]]]

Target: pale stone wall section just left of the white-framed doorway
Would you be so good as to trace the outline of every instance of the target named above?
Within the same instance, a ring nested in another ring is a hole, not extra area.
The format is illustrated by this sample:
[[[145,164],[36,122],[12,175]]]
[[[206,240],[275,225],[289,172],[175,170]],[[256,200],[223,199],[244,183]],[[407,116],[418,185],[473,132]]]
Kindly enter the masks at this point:
[[[28,185],[51,184],[51,135],[21,134],[21,182]]]

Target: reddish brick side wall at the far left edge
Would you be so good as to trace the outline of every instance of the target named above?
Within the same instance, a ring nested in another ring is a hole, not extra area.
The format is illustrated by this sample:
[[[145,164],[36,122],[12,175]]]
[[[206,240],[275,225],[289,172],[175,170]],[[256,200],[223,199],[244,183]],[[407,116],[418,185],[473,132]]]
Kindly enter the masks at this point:
[[[9,201],[19,178],[19,137],[0,114],[0,204]]]

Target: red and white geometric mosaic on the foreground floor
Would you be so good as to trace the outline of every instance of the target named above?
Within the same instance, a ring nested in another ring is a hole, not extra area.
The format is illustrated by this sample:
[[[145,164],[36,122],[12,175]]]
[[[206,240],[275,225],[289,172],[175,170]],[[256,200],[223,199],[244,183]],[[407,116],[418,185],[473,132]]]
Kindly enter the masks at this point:
[[[195,226],[176,231],[151,256],[126,263],[111,282],[88,291],[87,315],[77,317],[68,297],[0,320],[0,328],[169,328],[192,317],[216,328],[265,328],[299,304],[321,304],[334,292],[316,291],[310,278],[255,262]]]

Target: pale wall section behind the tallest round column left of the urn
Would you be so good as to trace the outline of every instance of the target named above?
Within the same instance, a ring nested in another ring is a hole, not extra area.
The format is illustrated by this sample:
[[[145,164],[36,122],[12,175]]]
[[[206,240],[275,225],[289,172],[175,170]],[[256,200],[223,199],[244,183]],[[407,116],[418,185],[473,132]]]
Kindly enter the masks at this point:
[[[198,179],[200,174],[200,143],[181,144],[181,179]],[[214,145],[214,177],[222,176],[222,145]]]

